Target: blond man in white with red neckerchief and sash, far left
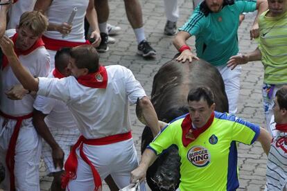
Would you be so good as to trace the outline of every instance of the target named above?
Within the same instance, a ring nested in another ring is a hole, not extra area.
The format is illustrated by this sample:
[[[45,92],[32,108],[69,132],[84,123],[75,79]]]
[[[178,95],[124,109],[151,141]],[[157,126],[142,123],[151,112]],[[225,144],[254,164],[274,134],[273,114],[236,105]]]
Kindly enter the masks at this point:
[[[24,12],[16,33],[11,37],[17,59],[35,77],[49,73],[49,53],[44,48],[42,33],[48,21],[41,12]],[[4,37],[3,37],[4,38]],[[2,39],[3,39],[2,38]],[[15,99],[19,84],[7,57],[3,57],[0,102],[0,161],[5,163],[4,190],[40,190],[39,162],[41,140],[32,123],[34,97],[23,90],[21,100]]]

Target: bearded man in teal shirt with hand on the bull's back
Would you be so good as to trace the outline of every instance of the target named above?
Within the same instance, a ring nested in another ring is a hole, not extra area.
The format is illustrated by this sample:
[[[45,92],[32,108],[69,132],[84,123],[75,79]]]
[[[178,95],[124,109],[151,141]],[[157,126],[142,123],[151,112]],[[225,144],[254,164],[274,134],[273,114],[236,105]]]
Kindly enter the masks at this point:
[[[189,21],[180,28],[173,44],[180,56],[177,60],[185,62],[198,58],[216,66],[223,77],[225,91],[229,102],[229,113],[235,114],[240,88],[241,68],[234,71],[227,68],[229,57],[238,53],[237,30],[239,15],[243,12],[258,10],[251,37],[258,37],[258,17],[267,10],[266,0],[204,0],[195,8]],[[187,39],[195,36],[196,55],[186,45]]]

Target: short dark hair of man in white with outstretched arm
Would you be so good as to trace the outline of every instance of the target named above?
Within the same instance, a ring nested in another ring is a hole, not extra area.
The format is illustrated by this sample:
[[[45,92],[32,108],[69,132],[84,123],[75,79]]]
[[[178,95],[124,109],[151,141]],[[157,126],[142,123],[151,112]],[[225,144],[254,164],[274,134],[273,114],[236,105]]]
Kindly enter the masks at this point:
[[[75,60],[78,69],[88,69],[89,73],[98,71],[99,55],[92,45],[81,45],[71,48],[71,57]]]

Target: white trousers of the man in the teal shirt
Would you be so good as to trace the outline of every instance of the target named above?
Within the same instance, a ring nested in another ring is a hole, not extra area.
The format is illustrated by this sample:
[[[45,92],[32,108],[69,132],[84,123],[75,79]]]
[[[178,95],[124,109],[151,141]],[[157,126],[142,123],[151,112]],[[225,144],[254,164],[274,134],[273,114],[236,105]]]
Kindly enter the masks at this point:
[[[225,84],[225,92],[228,98],[229,114],[237,111],[237,102],[240,90],[241,66],[236,66],[234,70],[227,68],[226,65],[216,66]]]

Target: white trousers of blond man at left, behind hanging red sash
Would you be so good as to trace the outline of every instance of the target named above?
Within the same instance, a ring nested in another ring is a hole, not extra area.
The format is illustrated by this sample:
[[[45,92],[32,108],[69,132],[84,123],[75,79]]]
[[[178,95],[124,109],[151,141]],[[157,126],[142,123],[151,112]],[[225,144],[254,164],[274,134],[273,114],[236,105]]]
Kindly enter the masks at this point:
[[[0,127],[4,118],[0,116]],[[5,124],[5,122],[4,122]],[[0,187],[10,190],[10,173],[6,166],[6,152],[16,120],[8,120],[0,131],[0,162],[4,165],[6,176]],[[42,141],[32,125],[32,118],[23,120],[15,148],[15,188],[21,191],[40,190],[39,164]]]

